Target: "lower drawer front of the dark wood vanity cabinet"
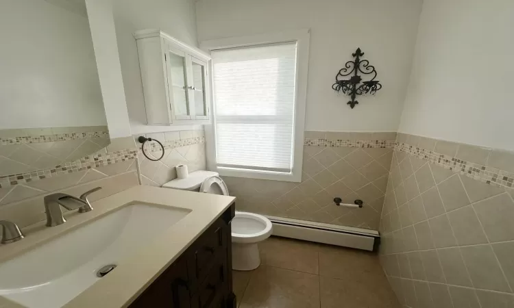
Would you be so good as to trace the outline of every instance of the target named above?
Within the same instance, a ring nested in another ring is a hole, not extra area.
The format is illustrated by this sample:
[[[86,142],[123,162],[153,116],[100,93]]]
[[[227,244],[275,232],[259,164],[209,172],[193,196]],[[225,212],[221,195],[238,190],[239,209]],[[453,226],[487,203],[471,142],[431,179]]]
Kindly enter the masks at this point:
[[[215,266],[210,268],[206,279],[198,287],[191,298],[191,308],[217,307],[223,300],[227,285],[226,256],[223,254],[216,259]]]

